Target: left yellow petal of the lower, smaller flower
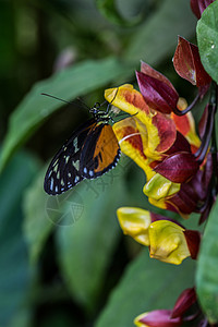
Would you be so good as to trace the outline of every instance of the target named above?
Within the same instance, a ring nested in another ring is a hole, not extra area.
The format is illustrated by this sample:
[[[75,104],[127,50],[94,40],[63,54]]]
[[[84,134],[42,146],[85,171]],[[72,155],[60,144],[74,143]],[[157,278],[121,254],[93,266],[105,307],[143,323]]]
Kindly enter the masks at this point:
[[[149,211],[135,207],[121,207],[117,210],[117,215],[124,234],[143,245],[149,245],[148,227],[152,222]]]

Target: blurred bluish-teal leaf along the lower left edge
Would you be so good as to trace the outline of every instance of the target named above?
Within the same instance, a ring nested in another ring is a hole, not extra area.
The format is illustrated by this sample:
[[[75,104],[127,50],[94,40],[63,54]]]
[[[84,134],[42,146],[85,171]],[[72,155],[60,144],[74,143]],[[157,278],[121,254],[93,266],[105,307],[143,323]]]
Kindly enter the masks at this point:
[[[0,178],[0,326],[21,326],[21,320],[26,326],[28,319],[33,271],[22,231],[22,198],[37,169],[35,159],[22,153]]]

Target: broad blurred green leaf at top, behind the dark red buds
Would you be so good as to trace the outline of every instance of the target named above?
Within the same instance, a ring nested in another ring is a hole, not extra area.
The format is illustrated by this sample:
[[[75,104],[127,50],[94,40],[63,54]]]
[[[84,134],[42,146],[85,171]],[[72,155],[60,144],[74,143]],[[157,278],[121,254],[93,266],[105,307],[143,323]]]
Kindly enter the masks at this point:
[[[157,65],[173,53],[178,35],[189,38],[194,33],[195,21],[189,1],[162,1],[158,10],[134,33],[125,59],[134,62],[144,60]]]

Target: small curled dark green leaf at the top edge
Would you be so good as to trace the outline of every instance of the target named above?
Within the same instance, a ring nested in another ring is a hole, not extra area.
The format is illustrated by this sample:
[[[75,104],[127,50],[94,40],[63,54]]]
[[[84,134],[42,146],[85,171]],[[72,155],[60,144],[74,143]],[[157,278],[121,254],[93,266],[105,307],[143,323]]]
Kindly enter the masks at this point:
[[[142,15],[134,17],[132,21],[125,20],[116,5],[116,0],[96,0],[96,5],[100,13],[108,19],[111,23],[121,25],[121,26],[132,26],[138,24],[142,21]]]

